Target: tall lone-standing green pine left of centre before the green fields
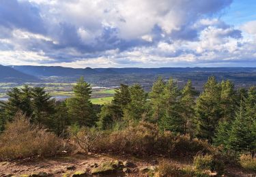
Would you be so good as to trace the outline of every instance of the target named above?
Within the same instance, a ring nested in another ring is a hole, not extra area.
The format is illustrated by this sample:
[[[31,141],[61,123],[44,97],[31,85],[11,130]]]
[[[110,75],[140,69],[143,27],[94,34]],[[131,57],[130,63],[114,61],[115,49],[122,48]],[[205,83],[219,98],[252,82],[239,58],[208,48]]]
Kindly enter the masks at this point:
[[[80,126],[91,127],[96,123],[96,115],[92,108],[91,86],[81,77],[73,88],[74,97],[67,100],[68,114],[71,122]]]

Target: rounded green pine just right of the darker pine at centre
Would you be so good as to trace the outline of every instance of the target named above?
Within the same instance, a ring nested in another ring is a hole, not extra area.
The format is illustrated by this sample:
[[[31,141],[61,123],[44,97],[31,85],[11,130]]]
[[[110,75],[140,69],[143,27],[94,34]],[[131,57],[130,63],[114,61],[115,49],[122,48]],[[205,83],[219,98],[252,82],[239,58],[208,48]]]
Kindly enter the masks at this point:
[[[146,112],[146,94],[141,85],[130,87],[130,103],[124,110],[124,118],[128,120],[141,120]]]

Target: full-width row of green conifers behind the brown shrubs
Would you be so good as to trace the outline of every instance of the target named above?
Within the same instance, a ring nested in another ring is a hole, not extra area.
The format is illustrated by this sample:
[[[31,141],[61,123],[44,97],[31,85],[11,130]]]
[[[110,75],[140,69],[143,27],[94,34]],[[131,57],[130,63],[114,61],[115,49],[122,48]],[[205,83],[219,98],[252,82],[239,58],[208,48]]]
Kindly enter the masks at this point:
[[[225,150],[256,149],[255,86],[236,90],[229,80],[210,77],[199,94],[190,81],[180,89],[173,78],[167,82],[158,78],[149,93],[139,84],[121,84],[113,101],[104,106],[91,103],[91,86],[83,77],[73,90],[74,97],[59,102],[41,87],[12,88],[8,101],[0,104],[1,131],[21,111],[31,123],[63,136],[70,125],[106,130],[143,120],[162,132],[190,134]]]

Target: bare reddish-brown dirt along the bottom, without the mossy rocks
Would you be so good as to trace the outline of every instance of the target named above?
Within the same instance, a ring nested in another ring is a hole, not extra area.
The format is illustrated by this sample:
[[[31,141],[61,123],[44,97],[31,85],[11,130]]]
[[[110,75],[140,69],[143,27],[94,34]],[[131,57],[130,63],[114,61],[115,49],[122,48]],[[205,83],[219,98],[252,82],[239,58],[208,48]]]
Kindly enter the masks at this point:
[[[106,161],[129,161],[134,164],[130,167],[129,173],[119,173],[111,176],[147,176],[140,174],[139,169],[157,165],[161,157],[148,157],[138,159],[137,157],[120,157],[111,155],[72,155],[48,159],[30,159],[29,161],[19,160],[13,162],[0,162],[0,176],[23,176],[45,172],[51,176],[71,176],[75,172],[88,172]],[[177,167],[190,165],[190,161],[173,159],[173,164]],[[106,176],[106,175],[104,175]],[[228,167],[226,176],[256,177],[256,173],[244,172],[237,167]]]

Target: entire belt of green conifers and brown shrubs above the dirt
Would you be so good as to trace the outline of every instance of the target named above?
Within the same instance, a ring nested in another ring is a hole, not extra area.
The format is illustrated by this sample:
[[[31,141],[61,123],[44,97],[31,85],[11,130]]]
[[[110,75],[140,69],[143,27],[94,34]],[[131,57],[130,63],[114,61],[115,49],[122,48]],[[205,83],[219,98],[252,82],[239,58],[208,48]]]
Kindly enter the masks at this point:
[[[74,97],[59,102],[44,88],[12,88],[1,103],[0,159],[83,151],[193,161],[193,169],[164,161],[159,176],[223,174],[229,164],[255,170],[254,86],[236,90],[229,80],[210,77],[197,97],[190,81],[180,90],[172,78],[158,78],[150,93],[121,84],[104,106],[91,103],[83,78],[73,90]]]

